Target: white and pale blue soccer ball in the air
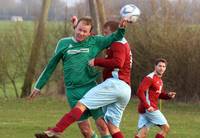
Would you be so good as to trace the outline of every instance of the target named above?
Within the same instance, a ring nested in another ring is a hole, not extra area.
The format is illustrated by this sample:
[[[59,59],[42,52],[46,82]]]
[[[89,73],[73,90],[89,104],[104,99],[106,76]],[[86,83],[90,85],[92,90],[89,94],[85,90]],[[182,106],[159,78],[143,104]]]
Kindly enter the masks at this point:
[[[123,6],[120,10],[121,17],[126,19],[130,23],[136,22],[140,14],[140,9],[134,4],[127,4]]]

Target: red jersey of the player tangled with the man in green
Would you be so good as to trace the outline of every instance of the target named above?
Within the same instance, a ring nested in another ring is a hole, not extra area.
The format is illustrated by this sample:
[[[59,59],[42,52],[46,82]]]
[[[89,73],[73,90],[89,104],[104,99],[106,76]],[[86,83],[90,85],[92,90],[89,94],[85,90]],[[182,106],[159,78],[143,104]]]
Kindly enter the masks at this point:
[[[103,79],[118,78],[130,85],[132,54],[125,38],[113,42],[106,51],[105,58],[96,58],[95,66],[104,67]]]

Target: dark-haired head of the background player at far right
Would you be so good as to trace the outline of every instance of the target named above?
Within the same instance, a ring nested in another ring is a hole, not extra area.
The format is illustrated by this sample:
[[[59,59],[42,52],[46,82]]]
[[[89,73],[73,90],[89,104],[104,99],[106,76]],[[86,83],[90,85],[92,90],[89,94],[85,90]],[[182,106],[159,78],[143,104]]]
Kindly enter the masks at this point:
[[[157,75],[162,76],[167,67],[167,60],[158,58],[155,60],[155,72]]]

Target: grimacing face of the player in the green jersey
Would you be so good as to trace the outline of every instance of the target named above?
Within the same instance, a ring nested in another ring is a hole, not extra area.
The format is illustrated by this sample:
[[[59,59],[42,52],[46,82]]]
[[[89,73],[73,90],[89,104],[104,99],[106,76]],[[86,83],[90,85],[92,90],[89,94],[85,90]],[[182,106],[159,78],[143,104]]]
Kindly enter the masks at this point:
[[[86,25],[84,21],[80,21],[75,28],[75,39],[80,42],[90,35],[91,25]]]

